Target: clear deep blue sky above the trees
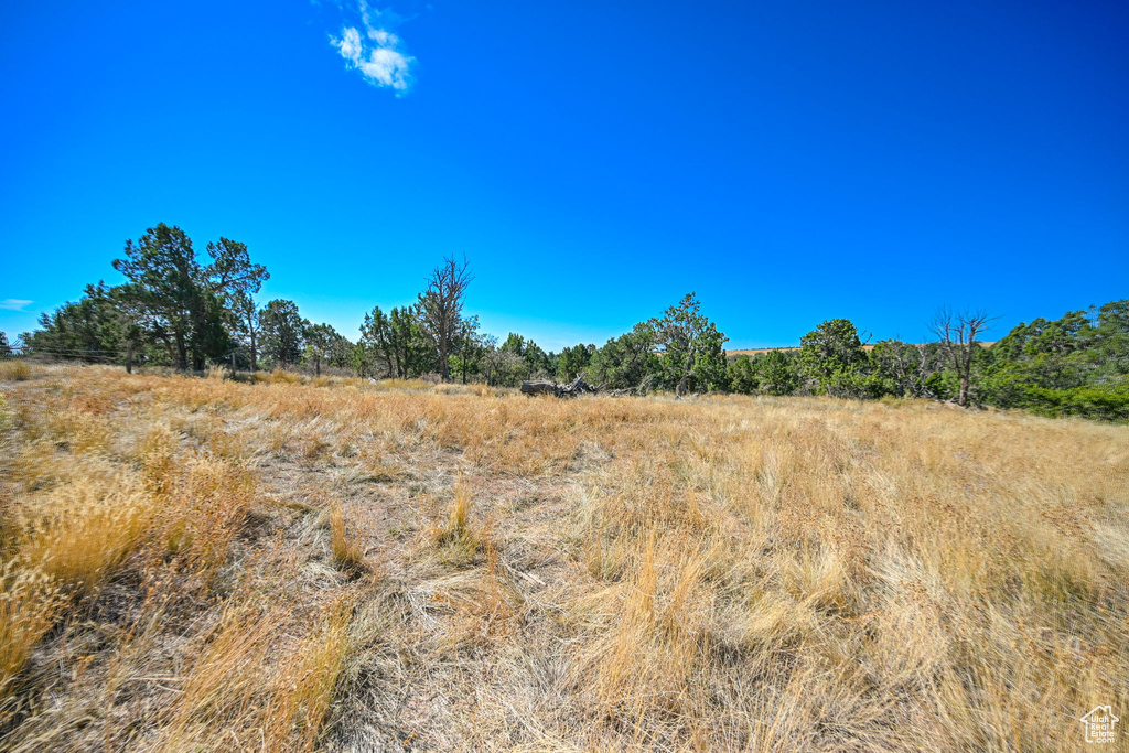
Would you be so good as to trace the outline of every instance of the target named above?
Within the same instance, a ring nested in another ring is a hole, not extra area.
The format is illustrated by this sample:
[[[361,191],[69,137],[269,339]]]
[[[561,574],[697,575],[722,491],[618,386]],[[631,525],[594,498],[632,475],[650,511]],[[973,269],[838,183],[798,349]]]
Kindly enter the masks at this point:
[[[445,254],[546,349],[691,290],[730,348],[943,304],[1001,334],[1129,296],[1127,34],[1123,2],[5,3],[0,330],[164,221],[350,338]]]

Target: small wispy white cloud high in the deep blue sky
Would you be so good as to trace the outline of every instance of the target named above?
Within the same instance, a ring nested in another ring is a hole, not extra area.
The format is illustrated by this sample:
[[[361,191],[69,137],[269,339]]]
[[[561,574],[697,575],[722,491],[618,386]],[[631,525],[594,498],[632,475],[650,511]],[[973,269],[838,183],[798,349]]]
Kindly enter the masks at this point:
[[[331,36],[330,44],[345,60],[345,65],[358,71],[366,81],[380,88],[396,90],[396,96],[411,86],[411,68],[415,62],[402,52],[400,37],[387,26],[396,16],[387,10],[369,8],[360,2],[360,25],[341,27],[341,36]]]

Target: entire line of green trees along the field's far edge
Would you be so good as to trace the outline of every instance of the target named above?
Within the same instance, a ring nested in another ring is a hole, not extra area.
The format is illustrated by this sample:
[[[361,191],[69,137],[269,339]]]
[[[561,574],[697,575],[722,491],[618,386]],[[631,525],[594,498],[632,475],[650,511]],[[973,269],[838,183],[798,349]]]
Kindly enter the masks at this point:
[[[202,370],[306,368],[373,378],[485,382],[531,378],[636,392],[885,396],[1021,408],[1049,415],[1129,419],[1129,300],[1021,324],[991,347],[984,313],[942,310],[928,343],[864,342],[846,318],[823,322],[799,348],[728,358],[727,338],[694,294],[602,347],[545,351],[518,333],[482,331],[464,310],[473,281],[465,260],[445,259],[417,300],[365,315],[356,342],[304,318],[291,300],[260,304],[270,279],[245,244],[219,238],[203,257],[178,227],[158,225],[128,240],[113,261],[122,284],[87,286],[84,296],[40,318],[20,336],[26,353],[95,362]],[[0,354],[8,350],[0,340]]]

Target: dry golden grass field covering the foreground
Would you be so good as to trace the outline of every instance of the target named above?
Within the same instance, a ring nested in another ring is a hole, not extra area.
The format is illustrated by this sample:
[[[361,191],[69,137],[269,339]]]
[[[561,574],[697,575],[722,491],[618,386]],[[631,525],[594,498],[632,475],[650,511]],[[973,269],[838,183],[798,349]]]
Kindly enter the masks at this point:
[[[11,362],[0,395],[6,751],[1070,751],[1129,719],[1129,427]]]

